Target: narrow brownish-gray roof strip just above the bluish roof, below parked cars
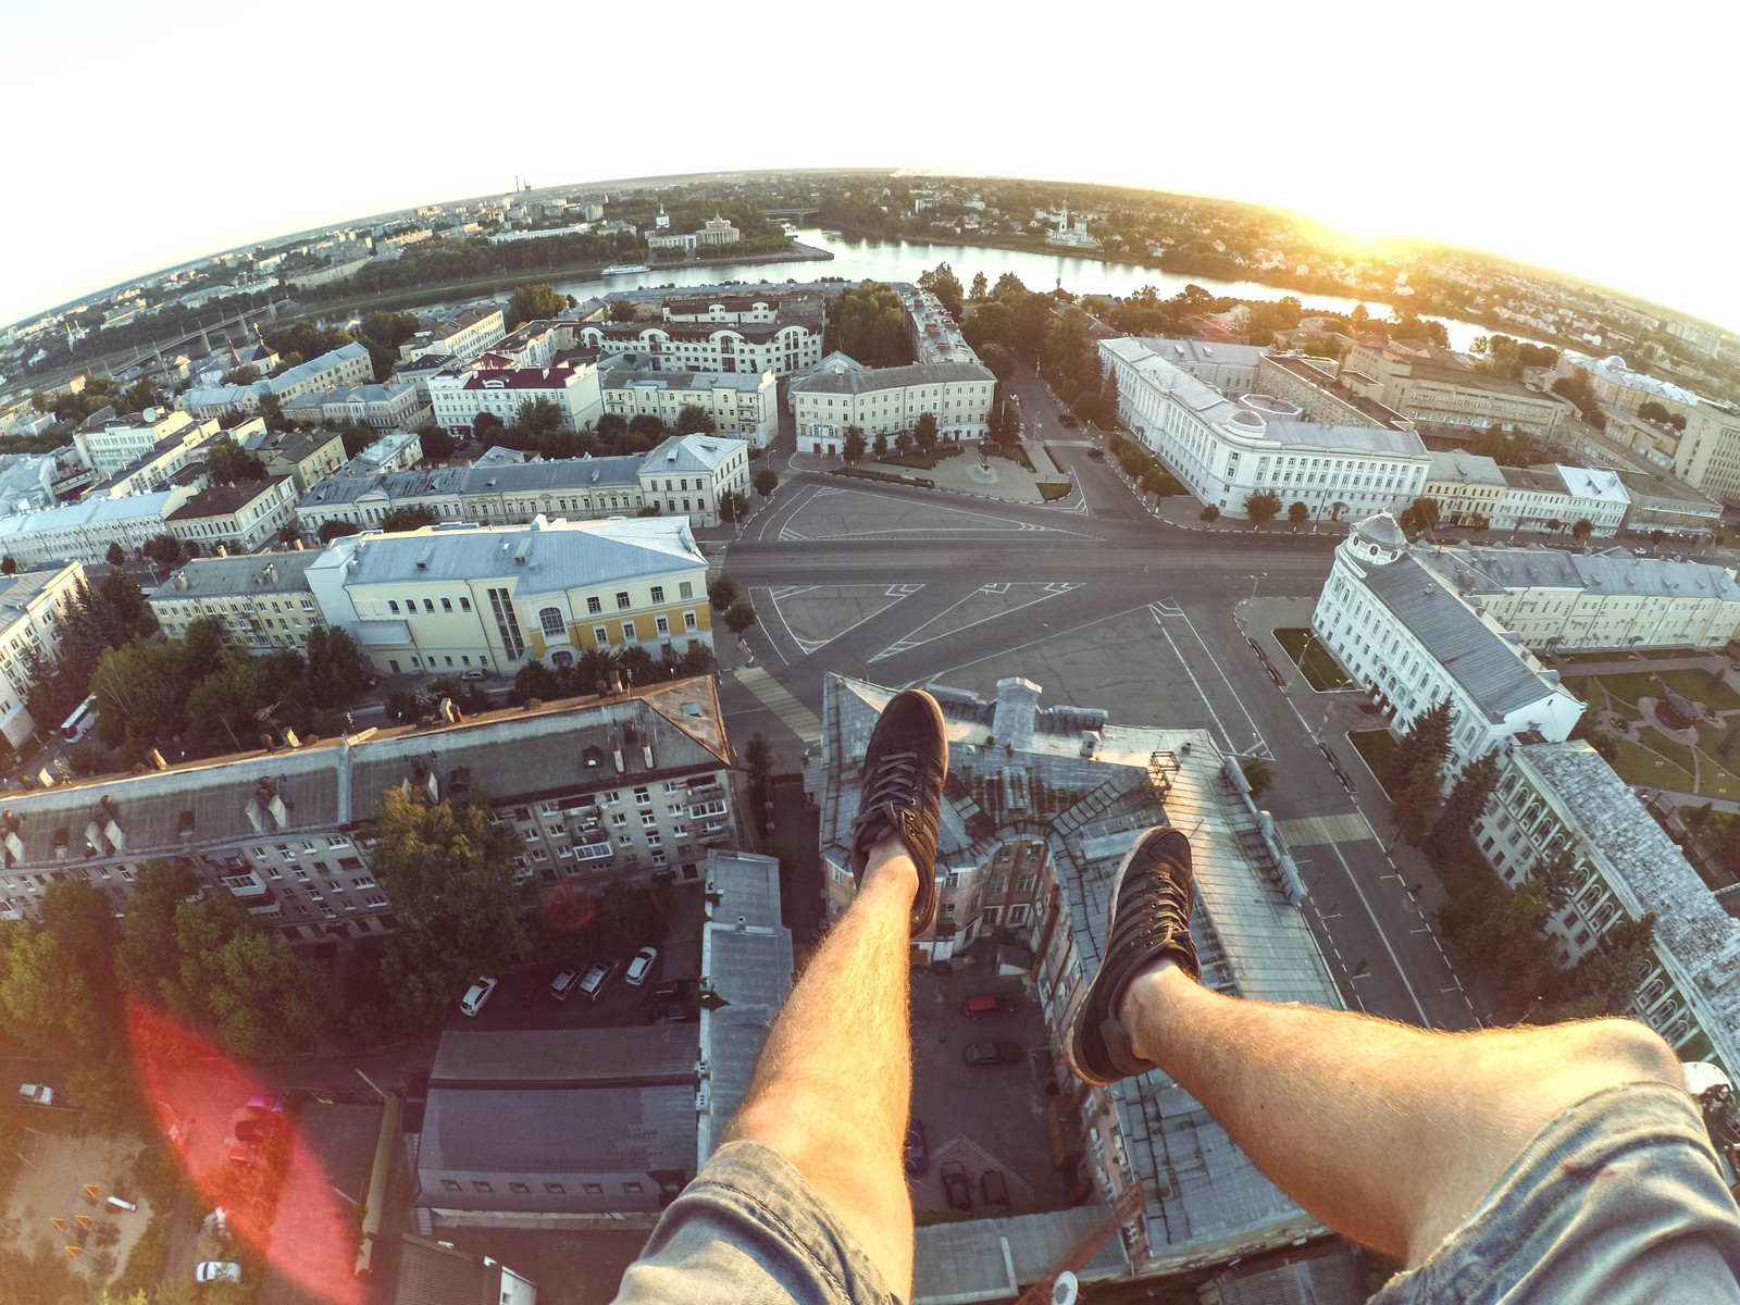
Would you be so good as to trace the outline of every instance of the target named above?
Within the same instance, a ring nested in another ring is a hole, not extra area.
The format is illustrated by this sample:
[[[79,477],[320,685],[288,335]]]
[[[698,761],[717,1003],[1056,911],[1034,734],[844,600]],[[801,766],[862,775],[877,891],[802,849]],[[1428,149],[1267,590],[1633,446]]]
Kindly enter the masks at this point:
[[[694,1086],[694,1025],[442,1034],[430,1082],[440,1088]]]

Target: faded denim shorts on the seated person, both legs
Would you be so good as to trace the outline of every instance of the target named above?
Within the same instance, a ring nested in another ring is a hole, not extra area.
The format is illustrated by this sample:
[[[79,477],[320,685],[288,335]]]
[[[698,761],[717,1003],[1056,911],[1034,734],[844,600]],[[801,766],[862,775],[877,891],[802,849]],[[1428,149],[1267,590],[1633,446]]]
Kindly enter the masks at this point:
[[[896,1305],[809,1181],[720,1147],[665,1211],[618,1305]],[[1474,1213],[1371,1305],[1740,1305],[1740,1209],[1679,1088],[1610,1088],[1542,1129]]]

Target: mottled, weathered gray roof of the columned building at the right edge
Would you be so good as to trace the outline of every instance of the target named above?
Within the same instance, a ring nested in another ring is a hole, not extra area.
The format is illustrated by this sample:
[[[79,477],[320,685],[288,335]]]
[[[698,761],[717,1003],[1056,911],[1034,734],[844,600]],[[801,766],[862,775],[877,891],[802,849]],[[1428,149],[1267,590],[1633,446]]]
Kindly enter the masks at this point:
[[[1571,813],[1603,877],[1636,919],[1656,912],[1655,947],[1714,1014],[1717,1051],[1740,1067],[1740,922],[1721,908],[1686,854],[1651,820],[1637,795],[1583,741],[1533,743],[1522,757]]]

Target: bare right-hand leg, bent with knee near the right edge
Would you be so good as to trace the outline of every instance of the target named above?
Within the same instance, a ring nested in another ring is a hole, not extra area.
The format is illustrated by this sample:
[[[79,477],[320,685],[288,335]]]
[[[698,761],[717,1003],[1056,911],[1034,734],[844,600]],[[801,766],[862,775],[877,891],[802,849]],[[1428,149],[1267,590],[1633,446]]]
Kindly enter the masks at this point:
[[[1282,1192],[1416,1267],[1542,1128],[1604,1088],[1684,1084],[1630,1020],[1436,1034],[1347,1011],[1235,1000],[1162,962],[1121,1018]]]

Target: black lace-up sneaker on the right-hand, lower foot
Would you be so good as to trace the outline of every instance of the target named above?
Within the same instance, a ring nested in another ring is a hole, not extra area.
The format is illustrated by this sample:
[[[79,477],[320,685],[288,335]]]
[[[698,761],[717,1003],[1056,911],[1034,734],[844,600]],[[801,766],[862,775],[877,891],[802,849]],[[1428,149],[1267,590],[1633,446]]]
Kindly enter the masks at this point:
[[[1131,1049],[1117,1009],[1129,980],[1166,955],[1202,981],[1190,938],[1192,880],[1190,839],[1169,825],[1136,839],[1117,868],[1100,969],[1063,1039],[1063,1054],[1082,1082],[1108,1084],[1155,1068]]]

